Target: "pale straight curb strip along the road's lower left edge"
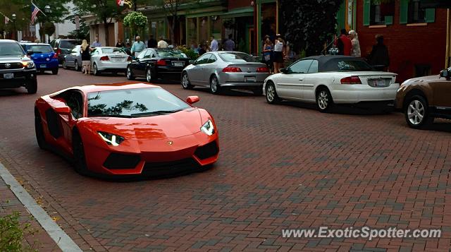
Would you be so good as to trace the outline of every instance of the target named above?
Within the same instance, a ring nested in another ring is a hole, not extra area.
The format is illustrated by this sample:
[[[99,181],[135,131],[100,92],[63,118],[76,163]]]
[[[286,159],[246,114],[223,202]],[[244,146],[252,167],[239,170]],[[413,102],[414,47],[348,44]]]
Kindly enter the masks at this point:
[[[10,186],[11,191],[20,200],[20,202],[27,208],[28,212],[32,214],[37,222],[41,224],[42,228],[49,234],[51,239],[54,239],[56,244],[61,248],[63,252],[80,252],[82,251],[80,247],[75,244],[75,242],[70,239],[68,234],[61,229],[54,220],[51,219],[47,212],[41,208],[35,201],[35,199],[30,196],[30,194],[25,191],[25,188],[20,186],[18,181],[11,175],[11,173],[0,163],[0,176],[1,179],[5,181],[7,185]]]

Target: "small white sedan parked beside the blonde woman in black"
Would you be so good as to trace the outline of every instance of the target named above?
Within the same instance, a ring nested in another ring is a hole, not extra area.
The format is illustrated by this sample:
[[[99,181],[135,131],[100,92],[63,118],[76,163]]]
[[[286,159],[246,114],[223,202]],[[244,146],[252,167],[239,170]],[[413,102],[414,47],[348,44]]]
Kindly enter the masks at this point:
[[[123,49],[118,47],[96,47],[91,52],[92,73],[125,73],[128,62],[132,60]]]

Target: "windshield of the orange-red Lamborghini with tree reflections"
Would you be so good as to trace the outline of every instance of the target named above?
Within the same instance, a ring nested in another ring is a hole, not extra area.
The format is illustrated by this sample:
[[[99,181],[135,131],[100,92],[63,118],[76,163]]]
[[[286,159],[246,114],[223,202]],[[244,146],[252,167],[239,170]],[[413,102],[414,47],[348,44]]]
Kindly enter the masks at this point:
[[[163,88],[89,92],[87,116],[140,117],[171,114],[190,106]]]

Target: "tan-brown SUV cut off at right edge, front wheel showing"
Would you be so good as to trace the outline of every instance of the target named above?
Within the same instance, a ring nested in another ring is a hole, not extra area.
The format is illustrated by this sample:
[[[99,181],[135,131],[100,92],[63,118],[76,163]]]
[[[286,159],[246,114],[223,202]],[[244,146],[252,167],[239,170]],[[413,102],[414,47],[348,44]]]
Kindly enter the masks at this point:
[[[451,119],[451,68],[439,76],[404,81],[397,90],[396,108],[402,109],[407,124],[422,128],[434,118]]]

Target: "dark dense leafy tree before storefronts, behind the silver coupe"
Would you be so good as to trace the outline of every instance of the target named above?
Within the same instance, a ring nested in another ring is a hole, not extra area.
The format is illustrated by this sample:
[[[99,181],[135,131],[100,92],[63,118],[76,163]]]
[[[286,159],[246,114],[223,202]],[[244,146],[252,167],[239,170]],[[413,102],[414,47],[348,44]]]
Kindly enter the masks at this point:
[[[343,0],[281,0],[283,34],[296,51],[321,54],[323,44],[335,34],[337,12]]]

